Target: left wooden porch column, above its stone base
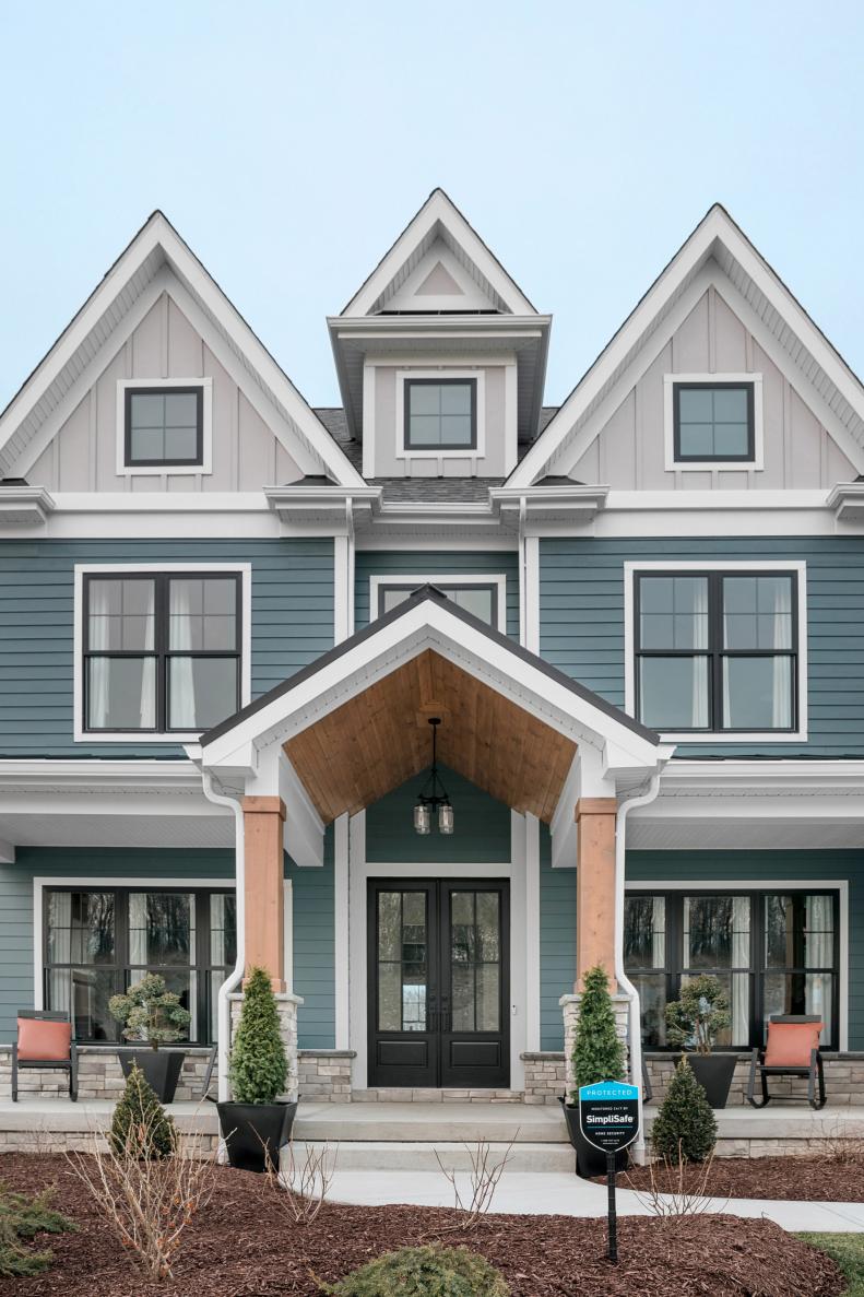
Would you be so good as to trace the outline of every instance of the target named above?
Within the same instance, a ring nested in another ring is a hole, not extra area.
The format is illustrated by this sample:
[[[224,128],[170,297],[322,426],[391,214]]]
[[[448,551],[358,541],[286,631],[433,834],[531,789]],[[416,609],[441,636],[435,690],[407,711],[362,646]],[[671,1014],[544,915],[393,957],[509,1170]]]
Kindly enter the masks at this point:
[[[285,990],[282,798],[244,798],[246,969],[270,973],[274,991]]]

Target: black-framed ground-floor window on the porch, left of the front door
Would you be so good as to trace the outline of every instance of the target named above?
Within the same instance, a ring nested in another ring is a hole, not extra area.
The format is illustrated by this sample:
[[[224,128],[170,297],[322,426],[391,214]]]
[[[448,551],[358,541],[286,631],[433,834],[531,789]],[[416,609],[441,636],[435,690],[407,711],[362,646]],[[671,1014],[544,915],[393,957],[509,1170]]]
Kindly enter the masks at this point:
[[[237,949],[228,888],[51,887],[43,892],[45,1008],[80,1041],[119,1041],[108,1001],[160,973],[192,1014],[188,1040],[215,1040],[217,996]]]

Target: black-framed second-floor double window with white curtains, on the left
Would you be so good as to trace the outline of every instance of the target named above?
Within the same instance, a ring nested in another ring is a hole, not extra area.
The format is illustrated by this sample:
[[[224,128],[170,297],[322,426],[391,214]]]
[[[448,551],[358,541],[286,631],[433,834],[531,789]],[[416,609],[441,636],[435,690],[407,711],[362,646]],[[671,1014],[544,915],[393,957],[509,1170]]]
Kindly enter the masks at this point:
[[[88,573],[84,729],[193,733],[240,707],[236,572]]]

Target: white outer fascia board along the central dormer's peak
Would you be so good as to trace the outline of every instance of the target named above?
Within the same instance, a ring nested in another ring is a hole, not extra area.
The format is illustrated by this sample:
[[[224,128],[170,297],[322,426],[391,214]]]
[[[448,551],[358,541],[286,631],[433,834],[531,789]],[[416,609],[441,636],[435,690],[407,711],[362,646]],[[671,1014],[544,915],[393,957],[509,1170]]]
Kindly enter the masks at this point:
[[[442,189],[433,189],[416,215],[381,258],[368,279],[345,306],[342,315],[366,315],[398,274],[418,244],[423,243],[436,224],[441,224],[454,243],[474,261],[480,274],[489,281],[498,297],[514,314],[529,315],[533,306],[510,278],[501,262],[490,253],[480,236],[471,228],[459,209]]]

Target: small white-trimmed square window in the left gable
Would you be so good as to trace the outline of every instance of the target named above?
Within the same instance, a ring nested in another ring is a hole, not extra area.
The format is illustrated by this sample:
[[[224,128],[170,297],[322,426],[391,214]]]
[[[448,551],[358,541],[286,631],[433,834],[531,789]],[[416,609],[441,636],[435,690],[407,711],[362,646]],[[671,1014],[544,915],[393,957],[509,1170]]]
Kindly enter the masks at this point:
[[[119,384],[118,472],[210,472],[210,380]]]

